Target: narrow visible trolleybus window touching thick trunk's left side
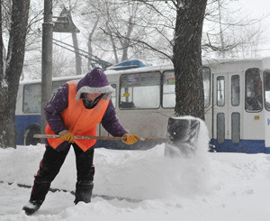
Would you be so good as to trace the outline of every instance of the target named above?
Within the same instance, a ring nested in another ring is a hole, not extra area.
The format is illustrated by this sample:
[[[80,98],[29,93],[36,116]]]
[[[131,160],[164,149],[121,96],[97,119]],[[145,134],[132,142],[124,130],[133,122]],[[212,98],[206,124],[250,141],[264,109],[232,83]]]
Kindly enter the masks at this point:
[[[163,78],[163,107],[175,107],[175,71],[164,72]]]

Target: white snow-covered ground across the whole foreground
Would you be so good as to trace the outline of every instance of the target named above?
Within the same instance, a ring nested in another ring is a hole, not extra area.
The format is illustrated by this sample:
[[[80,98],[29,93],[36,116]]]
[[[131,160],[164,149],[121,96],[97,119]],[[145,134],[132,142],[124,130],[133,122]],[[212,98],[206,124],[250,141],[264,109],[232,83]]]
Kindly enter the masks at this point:
[[[199,142],[189,159],[166,158],[165,144],[148,151],[96,149],[92,203],[74,205],[70,192],[49,192],[32,216],[22,210],[31,189],[17,184],[32,185],[44,145],[0,148],[0,220],[269,220],[270,155],[207,152]],[[75,184],[71,149],[51,188],[72,191]]]

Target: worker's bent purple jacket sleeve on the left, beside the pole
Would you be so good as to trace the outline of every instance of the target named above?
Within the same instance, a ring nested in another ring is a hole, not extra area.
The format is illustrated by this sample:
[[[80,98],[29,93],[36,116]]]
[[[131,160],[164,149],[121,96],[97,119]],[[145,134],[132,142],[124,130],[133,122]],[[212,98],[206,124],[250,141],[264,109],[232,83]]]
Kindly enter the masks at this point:
[[[68,85],[67,83],[58,88],[58,91],[50,98],[44,111],[50,129],[58,134],[61,131],[67,130],[61,113],[68,106]]]

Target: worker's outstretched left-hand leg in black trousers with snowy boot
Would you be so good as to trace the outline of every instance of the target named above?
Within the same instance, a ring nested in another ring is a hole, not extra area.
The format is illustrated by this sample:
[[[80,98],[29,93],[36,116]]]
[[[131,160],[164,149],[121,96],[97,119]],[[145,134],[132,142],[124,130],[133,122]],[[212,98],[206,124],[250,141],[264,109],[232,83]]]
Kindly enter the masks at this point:
[[[70,146],[65,151],[57,152],[49,145],[46,146],[43,159],[40,161],[40,170],[35,175],[30,201],[23,207],[25,213],[31,214],[40,208],[49,191],[51,181],[55,179],[67,157],[69,148]]]

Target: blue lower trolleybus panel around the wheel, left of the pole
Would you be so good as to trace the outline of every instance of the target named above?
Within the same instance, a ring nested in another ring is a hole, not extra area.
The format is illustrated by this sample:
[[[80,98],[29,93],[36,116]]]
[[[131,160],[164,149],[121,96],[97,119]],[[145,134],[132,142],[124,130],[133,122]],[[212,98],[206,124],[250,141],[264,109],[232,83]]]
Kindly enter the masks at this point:
[[[16,143],[23,145],[23,134],[30,124],[40,124],[40,115],[15,115]]]

